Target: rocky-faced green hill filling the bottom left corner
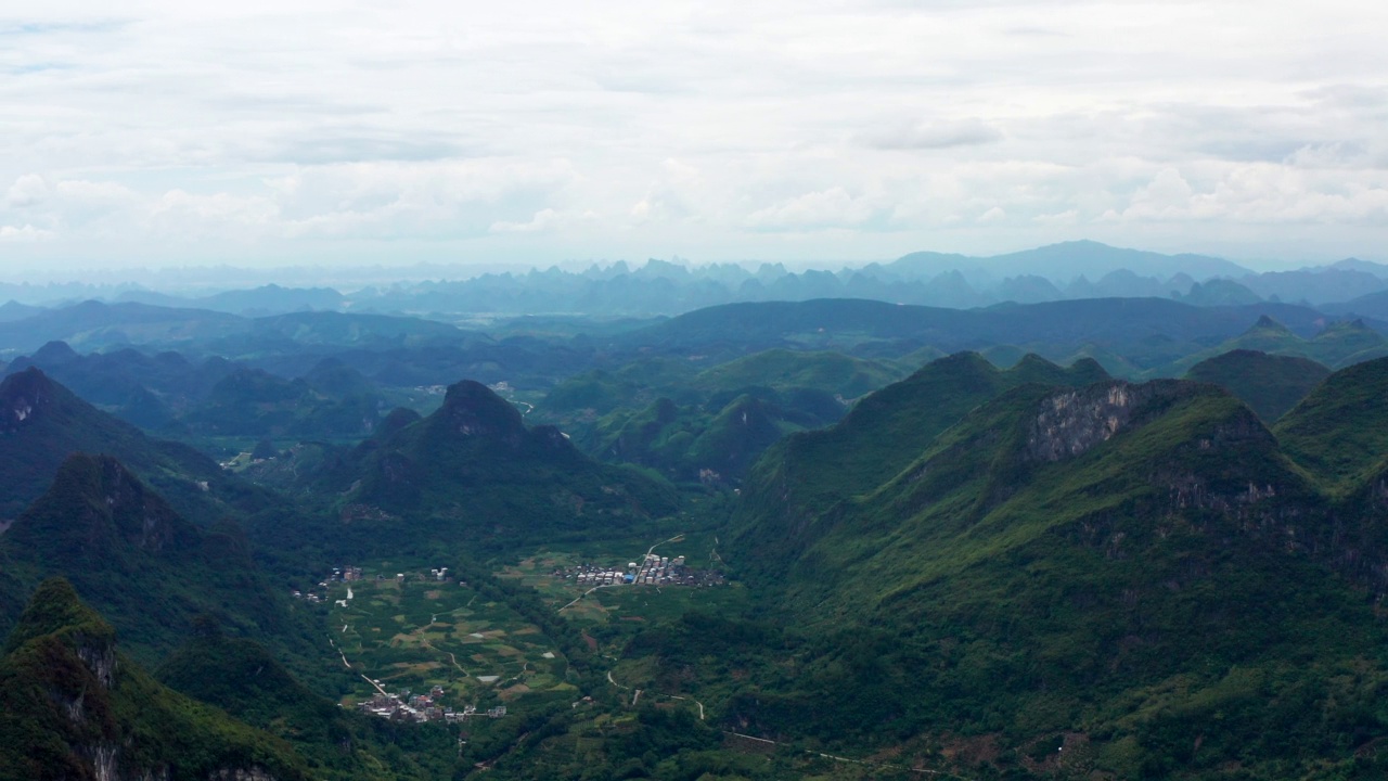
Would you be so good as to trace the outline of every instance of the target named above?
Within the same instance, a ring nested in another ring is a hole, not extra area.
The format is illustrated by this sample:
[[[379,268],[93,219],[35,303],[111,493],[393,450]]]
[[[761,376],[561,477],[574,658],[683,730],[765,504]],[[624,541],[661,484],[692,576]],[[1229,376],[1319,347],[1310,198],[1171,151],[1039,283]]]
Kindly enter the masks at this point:
[[[65,581],[0,657],[0,778],[311,778],[283,741],[155,682]]]

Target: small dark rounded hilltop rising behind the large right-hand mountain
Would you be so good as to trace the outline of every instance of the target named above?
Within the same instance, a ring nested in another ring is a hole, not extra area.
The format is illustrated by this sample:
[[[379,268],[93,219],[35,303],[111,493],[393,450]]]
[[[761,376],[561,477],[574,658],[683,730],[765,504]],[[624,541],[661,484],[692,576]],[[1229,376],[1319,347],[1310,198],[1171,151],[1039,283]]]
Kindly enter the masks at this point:
[[[1267,422],[1283,417],[1327,377],[1330,370],[1310,359],[1256,350],[1231,350],[1185,372],[1187,379],[1219,385],[1238,396]]]

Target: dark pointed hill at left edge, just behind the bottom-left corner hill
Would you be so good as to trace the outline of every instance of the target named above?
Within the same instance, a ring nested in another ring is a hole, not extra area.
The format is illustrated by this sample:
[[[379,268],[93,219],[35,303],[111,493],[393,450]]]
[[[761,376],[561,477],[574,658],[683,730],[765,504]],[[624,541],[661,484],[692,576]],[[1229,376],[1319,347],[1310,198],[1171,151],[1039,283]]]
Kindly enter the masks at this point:
[[[235,527],[194,527],[105,456],[64,461],[49,491],[0,535],[0,560],[10,591],[65,577],[146,661],[176,646],[201,614],[282,648],[307,643]],[[0,631],[14,620],[0,614]]]

